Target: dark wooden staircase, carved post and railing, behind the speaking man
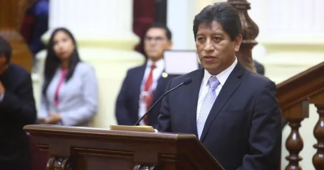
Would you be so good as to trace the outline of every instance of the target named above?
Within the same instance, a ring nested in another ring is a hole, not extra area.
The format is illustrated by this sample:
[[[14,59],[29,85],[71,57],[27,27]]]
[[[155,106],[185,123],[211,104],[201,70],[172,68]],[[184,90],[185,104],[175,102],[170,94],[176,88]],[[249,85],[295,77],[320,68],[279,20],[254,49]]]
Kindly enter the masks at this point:
[[[255,38],[258,36],[259,28],[249,17],[248,10],[251,9],[251,4],[247,0],[227,2],[238,10],[242,23],[243,40],[236,56],[242,65],[255,71],[252,49],[257,45]],[[286,157],[289,164],[286,169],[301,169],[299,161],[302,158],[299,153],[304,144],[299,128],[301,122],[309,116],[309,104],[315,104],[319,114],[313,132],[317,139],[317,144],[314,145],[317,153],[313,156],[313,164],[315,169],[324,169],[324,62],[277,84],[277,99],[282,117],[291,127],[291,133],[286,141],[286,148],[289,151]]]

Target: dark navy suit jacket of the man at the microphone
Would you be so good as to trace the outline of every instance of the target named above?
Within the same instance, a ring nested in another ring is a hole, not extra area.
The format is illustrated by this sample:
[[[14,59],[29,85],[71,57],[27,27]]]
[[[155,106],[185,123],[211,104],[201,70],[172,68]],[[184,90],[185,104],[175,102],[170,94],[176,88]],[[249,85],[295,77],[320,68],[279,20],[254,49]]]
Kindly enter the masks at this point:
[[[197,101],[204,69],[173,78],[167,90],[187,77],[192,79],[190,84],[163,99],[159,132],[197,136]],[[210,111],[200,141],[226,170],[278,169],[281,115],[275,84],[238,62]]]

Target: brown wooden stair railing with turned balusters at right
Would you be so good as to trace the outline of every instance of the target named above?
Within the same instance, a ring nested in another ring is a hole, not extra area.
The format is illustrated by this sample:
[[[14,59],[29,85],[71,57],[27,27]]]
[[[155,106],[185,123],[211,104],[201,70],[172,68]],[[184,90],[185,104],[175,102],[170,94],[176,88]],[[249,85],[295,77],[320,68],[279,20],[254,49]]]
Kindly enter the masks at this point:
[[[309,116],[309,104],[314,104],[319,114],[314,126],[317,152],[313,156],[315,169],[324,169],[324,62],[277,84],[278,102],[282,116],[291,127],[286,141],[289,164],[286,169],[301,169],[299,152],[303,149],[303,139],[299,134],[301,121]]]

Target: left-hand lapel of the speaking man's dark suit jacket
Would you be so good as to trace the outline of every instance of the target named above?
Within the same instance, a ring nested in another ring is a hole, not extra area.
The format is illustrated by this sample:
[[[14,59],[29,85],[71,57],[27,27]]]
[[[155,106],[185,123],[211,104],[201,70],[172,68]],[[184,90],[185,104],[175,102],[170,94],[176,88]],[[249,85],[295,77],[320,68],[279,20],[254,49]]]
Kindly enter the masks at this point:
[[[201,80],[203,80],[204,77],[204,68],[201,68],[198,70],[197,74],[192,77],[192,82],[188,84],[189,91],[188,91],[188,110],[187,110],[187,117],[189,118],[189,127],[190,132],[194,134],[196,137],[197,135],[197,123],[196,123],[196,117],[197,117],[197,103],[198,103],[198,95],[199,90],[201,86]]]

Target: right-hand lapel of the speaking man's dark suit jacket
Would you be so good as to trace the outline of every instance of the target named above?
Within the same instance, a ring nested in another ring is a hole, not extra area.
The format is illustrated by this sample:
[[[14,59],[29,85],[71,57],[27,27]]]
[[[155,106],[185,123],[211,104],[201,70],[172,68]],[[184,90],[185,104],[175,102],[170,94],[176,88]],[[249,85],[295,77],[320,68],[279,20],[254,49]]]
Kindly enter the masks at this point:
[[[244,68],[242,68],[242,66],[239,63],[237,63],[237,65],[235,66],[231,74],[228,76],[224,86],[222,87],[222,90],[217,96],[216,101],[207,117],[203,133],[201,134],[200,137],[200,141],[204,140],[214,119],[219,115],[221,109],[224,107],[224,105],[227,103],[229,98],[232,96],[232,94],[236,91],[236,89],[241,84],[240,77],[243,71]]]

